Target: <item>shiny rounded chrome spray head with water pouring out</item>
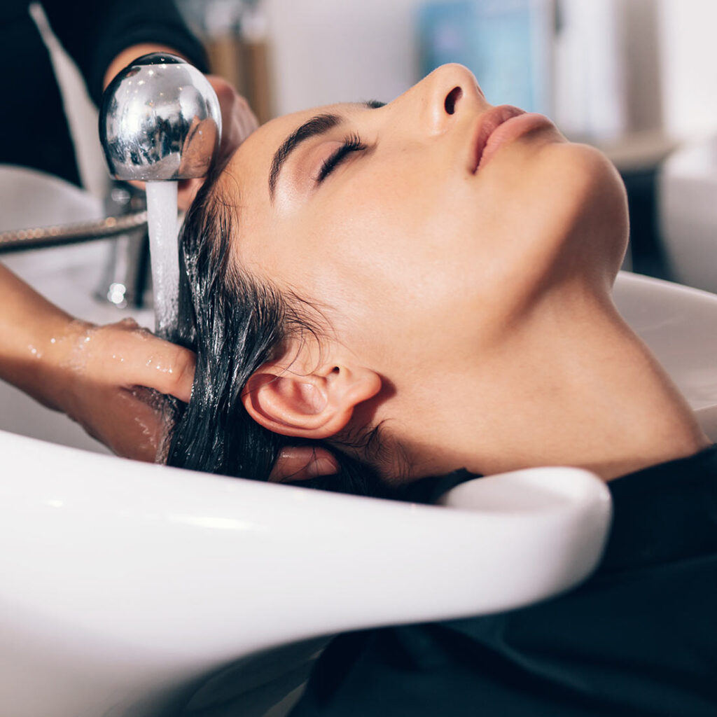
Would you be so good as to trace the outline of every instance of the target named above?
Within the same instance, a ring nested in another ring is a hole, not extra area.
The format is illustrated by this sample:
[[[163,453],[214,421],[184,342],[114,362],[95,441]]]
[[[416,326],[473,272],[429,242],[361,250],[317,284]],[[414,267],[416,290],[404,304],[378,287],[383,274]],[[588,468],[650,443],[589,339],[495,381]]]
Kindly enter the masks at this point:
[[[139,57],[103,95],[100,140],[116,179],[206,176],[221,136],[222,115],[212,85],[173,54]]]

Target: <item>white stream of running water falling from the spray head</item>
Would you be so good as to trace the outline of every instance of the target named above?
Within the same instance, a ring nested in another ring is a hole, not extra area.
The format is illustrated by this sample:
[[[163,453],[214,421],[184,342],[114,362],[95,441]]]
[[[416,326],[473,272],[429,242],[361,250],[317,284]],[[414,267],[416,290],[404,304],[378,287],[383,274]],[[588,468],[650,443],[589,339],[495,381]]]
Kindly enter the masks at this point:
[[[154,333],[157,336],[166,336],[176,315],[179,295],[177,183],[148,181],[146,189],[154,294]]]

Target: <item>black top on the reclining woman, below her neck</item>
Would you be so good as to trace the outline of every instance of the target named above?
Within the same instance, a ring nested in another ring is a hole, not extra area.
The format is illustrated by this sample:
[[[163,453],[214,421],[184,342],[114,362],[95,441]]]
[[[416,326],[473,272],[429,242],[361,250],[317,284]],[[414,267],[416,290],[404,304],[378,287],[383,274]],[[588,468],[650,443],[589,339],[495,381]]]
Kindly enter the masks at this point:
[[[291,717],[715,717],[717,446],[607,485],[614,522],[587,582],[488,617],[341,635]]]

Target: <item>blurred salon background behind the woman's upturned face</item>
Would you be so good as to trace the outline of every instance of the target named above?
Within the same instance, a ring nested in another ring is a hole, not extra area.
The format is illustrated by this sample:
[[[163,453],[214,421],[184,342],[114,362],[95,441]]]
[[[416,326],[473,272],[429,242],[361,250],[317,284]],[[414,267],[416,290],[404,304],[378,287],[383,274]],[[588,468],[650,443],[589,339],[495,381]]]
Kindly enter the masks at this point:
[[[716,0],[177,2],[261,121],[389,101],[462,62],[491,103],[546,113],[612,158],[630,201],[628,265],[717,290],[711,265],[701,275],[701,252],[717,252]]]

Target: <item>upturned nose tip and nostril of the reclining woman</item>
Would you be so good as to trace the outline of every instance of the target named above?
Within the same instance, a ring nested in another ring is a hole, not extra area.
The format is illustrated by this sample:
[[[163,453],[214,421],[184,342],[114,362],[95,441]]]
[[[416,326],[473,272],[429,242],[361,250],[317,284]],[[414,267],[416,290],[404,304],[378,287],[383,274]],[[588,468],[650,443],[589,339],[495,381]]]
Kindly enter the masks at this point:
[[[432,135],[445,133],[467,111],[488,107],[473,72],[463,65],[442,65],[412,87],[411,93],[424,128]]]

